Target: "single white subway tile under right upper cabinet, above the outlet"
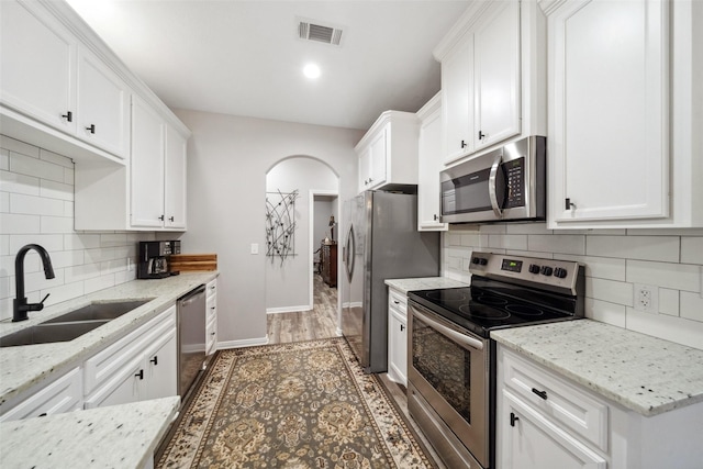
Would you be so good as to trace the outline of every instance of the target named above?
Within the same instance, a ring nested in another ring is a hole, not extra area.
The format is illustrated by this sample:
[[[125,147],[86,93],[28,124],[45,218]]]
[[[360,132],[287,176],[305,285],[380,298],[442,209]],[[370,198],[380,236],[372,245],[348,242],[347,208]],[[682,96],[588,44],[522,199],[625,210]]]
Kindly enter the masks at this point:
[[[589,256],[678,263],[679,237],[589,236],[587,254]]]

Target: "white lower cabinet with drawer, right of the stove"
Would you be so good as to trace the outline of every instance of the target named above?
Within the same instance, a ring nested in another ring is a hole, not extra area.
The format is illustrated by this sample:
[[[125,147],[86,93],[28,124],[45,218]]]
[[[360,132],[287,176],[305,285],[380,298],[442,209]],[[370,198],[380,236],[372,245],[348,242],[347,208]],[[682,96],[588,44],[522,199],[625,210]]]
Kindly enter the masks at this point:
[[[644,416],[499,344],[496,467],[700,468],[703,403]]]

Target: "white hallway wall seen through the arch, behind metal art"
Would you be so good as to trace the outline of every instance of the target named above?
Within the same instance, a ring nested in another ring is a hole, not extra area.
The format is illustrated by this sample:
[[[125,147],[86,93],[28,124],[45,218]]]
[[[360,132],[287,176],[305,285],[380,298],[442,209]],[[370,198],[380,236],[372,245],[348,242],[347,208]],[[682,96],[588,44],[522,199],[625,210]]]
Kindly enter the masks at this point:
[[[338,178],[324,163],[310,157],[288,158],[269,170],[266,176],[267,197],[270,203],[278,203],[282,193],[298,190],[295,200],[294,255],[281,261],[280,257],[266,260],[266,311],[289,312],[312,310],[310,252],[310,192],[336,192]],[[276,192],[276,193],[271,193]],[[327,222],[330,221],[327,202]],[[264,210],[264,209],[261,209]],[[328,228],[327,228],[328,232]],[[324,237],[324,232],[322,234]],[[320,239],[313,238],[313,250]]]

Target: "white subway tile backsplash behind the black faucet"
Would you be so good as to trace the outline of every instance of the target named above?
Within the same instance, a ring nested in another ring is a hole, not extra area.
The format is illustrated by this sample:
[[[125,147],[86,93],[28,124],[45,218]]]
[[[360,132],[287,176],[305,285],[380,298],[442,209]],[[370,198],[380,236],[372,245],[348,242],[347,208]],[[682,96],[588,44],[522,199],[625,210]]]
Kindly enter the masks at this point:
[[[24,261],[27,300],[51,293],[49,305],[134,280],[127,259],[133,266],[137,242],[150,239],[154,233],[75,231],[72,160],[0,135],[0,320],[12,317],[14,258],[25,244],[52,258],[51,280],[34,250]]]

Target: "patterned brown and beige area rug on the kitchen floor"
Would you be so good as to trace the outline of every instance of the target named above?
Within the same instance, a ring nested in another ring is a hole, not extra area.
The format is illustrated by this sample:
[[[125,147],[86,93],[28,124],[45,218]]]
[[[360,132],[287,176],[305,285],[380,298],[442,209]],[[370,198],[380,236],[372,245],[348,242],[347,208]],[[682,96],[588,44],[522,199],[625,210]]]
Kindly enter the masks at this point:
[[[435,468],[344,338],[221,350],[157,468]]]

